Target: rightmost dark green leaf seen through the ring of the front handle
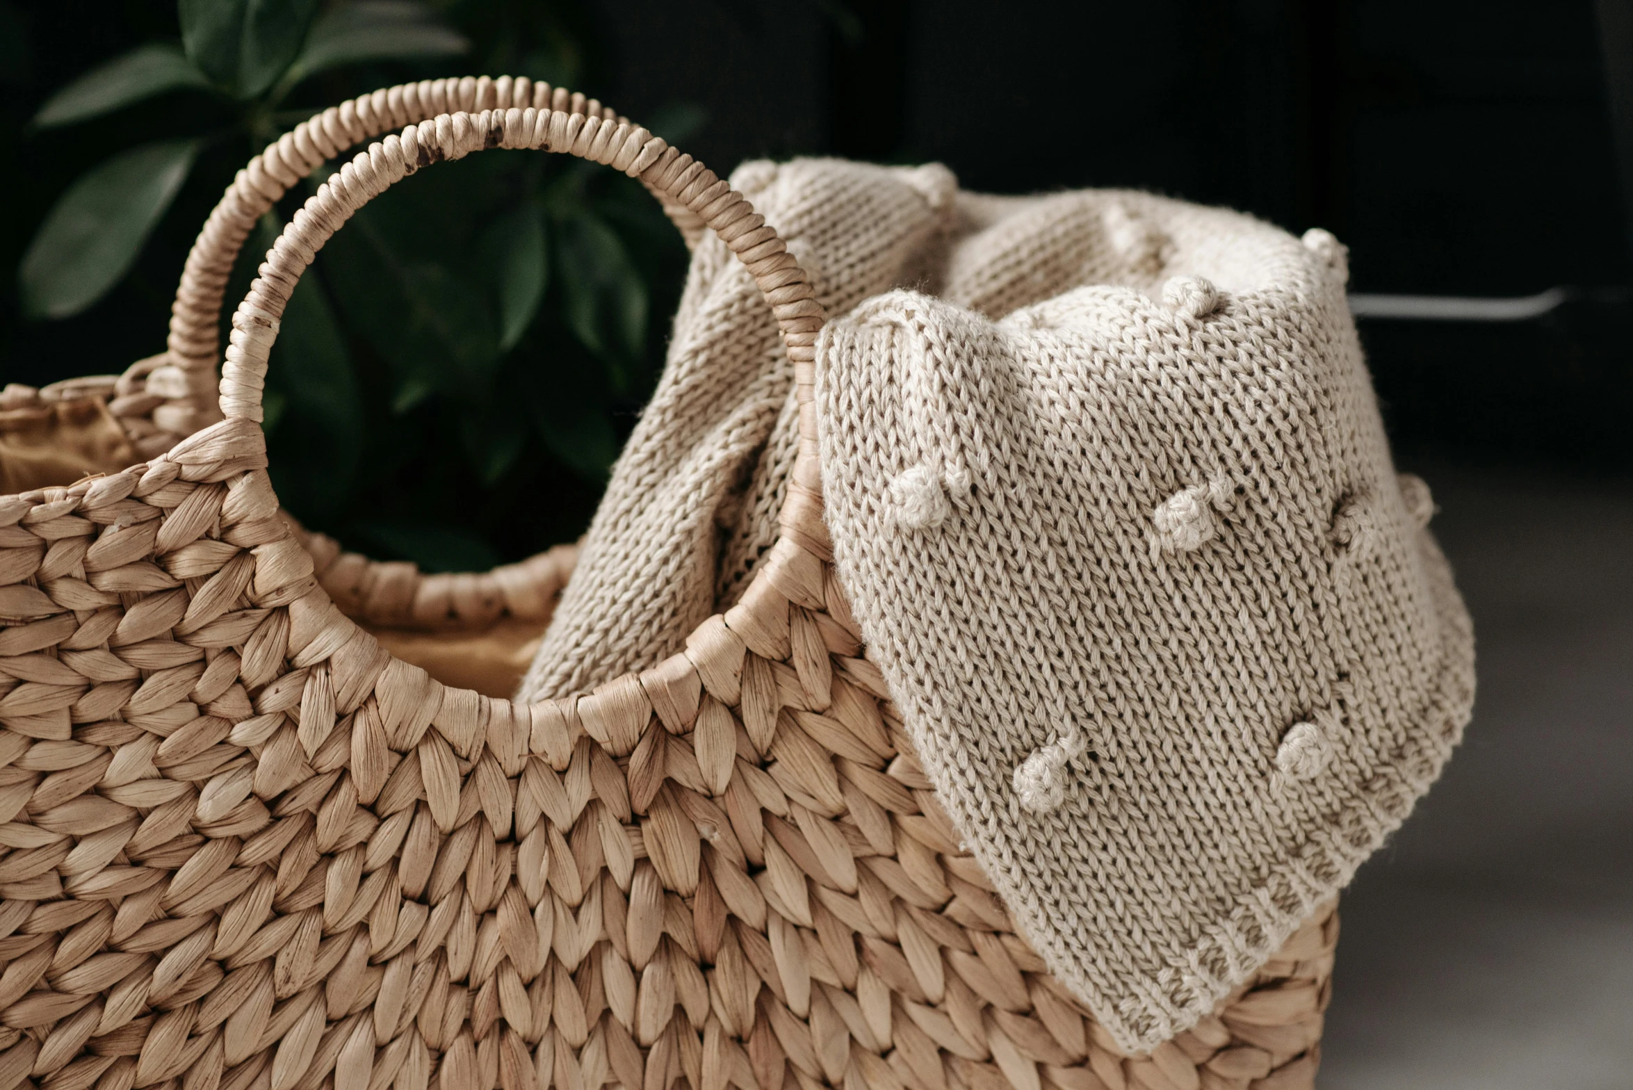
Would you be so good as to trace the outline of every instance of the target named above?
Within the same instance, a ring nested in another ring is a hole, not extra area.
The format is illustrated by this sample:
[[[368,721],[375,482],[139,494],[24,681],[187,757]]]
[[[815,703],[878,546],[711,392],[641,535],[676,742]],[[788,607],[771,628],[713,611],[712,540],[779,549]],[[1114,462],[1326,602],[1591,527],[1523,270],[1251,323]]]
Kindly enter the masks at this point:
[[[558,212],[554,235],[562,317],[573,336],[612,364],[637,359],[647,339],[647,284],[617,232],[575,204]]]

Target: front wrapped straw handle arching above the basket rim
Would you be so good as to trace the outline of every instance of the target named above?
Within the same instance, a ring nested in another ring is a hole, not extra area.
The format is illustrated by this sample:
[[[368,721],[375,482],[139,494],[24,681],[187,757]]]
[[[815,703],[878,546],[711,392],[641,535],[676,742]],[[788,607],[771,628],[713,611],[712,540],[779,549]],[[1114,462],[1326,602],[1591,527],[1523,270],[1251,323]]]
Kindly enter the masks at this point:
[[[260,277],[234,313],[220,383],[220,411],[229,419],[261,421],[266,361],[289,294],[340,225],[421,166],[490,147],[565,152],[611,165],[714,230],[743,261],[771,305],[795,366],[800,400],[807,401],[802,408],[808,414],[813,346],[823,310],[810,277],[766,219],[723,178],[643,127],[527,106],[477,114],[446,113],[434,121],[410,124],[400,135],[389,135],[361,152],[307,199],[268,251]]]

